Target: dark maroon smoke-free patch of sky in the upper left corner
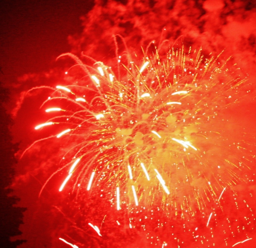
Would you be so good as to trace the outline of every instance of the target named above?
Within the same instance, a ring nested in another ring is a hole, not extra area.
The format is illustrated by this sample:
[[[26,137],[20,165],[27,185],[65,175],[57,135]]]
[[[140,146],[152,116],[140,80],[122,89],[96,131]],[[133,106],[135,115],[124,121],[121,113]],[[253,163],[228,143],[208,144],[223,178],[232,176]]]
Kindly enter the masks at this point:
[[[0,4],[0,80],[10,84],[39,73],[68,52],[68,35],[82,31],[80,16],[92,0],[4,0]]]

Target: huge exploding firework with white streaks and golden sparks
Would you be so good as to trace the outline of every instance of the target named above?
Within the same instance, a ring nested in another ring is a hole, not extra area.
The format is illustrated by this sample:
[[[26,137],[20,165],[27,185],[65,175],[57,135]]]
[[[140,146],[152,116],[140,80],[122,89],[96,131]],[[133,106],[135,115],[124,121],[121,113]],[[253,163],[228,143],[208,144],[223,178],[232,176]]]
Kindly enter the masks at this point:
[[[80,230],[90,228],[102,240],[110,239],[110,228],[145,234],[145,243],[123,247],[212,247],[216,235],[230,245],[237,233],[250,239],[225,216],[245,206],[246,222],[255,221],[246,200],[236,200],[237,185],[250,180],[254,155],[231,115],[249,94],[231,58],[205,56],[201,49],[185,53],[183,47],[155,50],[141,61],[119,56],[114,73],[101,62],[88,66],[65,56],[75,61],[67,76],[82,76],[56,86],[42,104],[51,118],[36,129],[60,130],[43,140],[61,139],[67,148],[40,194],[61,175],[59,194],[72,195],[72,210],[92,220],[74,220]],[[109,222],[108,215],[114,215]],[[99,227],[91,224],[96,220]]]

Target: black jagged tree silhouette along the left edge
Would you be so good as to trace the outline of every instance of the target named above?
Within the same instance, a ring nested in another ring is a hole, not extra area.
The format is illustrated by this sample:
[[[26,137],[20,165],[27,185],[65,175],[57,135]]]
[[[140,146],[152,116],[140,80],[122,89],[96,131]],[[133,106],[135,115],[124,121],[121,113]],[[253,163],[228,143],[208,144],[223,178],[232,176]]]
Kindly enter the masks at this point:
[[[0,83],[0,246],[16,248],[25,240],[11,241],[10,238],[22,234],[19,225],[23,223],[23,212],[26,208],[15,206],[19,198],[12,195],[10,188],[17,162],[14,154],[18,146],[12,143],[12,118],[4,105],[9,100],[9,94],[9,90]]]

